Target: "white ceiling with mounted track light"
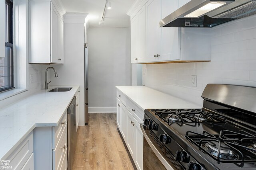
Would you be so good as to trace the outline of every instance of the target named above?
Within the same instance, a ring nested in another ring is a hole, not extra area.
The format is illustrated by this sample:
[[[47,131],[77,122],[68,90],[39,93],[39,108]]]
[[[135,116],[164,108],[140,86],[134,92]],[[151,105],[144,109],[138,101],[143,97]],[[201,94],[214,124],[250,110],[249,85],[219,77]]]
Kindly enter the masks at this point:
[[[99,22],[102,18],[106,0],[60,0],[66,12],[79,12],[89,14],[90,27],[129,27],[130,16],[126,12],[135,0],[108,0],[112,9],[106,9],[104,24]]]

